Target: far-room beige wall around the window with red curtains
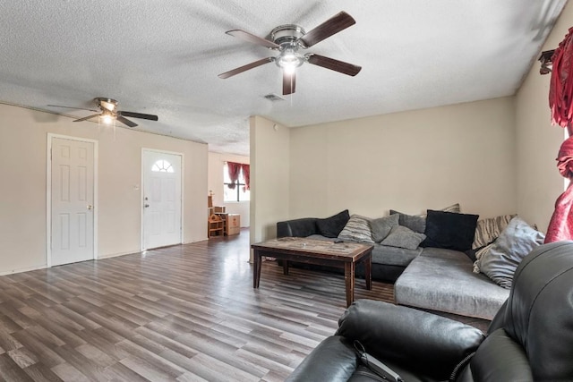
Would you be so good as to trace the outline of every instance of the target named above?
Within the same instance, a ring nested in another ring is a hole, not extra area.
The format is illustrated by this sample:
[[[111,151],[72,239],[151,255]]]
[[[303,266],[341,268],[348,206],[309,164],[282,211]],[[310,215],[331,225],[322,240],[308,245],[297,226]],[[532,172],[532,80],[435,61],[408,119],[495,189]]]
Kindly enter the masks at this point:
[[[241,226],[250,225],[250,206],[249,201],[240,201],[225,203],[223,201],[223,165],[225,162],[236,162],[249,164],[249,157],[241,157],[229,154],[220,154],[215,152],[209,153],[209,172],[208,186],[213,191],[213,206],[225,206],[229,214],[239,214],[241,216]]]

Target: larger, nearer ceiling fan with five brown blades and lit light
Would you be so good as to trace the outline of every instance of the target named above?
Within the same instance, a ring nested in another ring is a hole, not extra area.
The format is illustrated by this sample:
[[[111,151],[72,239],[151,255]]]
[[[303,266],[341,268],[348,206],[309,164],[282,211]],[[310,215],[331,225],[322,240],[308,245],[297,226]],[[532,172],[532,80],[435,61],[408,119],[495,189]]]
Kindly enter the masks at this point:
[[[262,64],[275,63],[283,72],[283,95],[292,94],[295,92],[295,69],[304,63],[322,66],[323,68],[332,71],[341,72],[349,76],[355,76],[360,72],[362,67],[355,64],[348,64],[342,61],[335,60],[334,58],[325,57],[324,55],[316,55],[307,53],[305,55],[299,53],[300,49],[306,49],[321,42],[325,38],[338,33],[341,30],[354,25],[355,19],[346,12],[340,12],[329,20],[324,21],[318,27],[306,32],[302,27],[295,24],[280,25],[270,32],[270,38],[260,38],[244,30],[227,30],[227,35],[236,38],[242,38],[245,41],[253,44],[268,47],[272,50],[277,50],[278,55],[274,57],[262,58],[251,64],[240,66],[231,71],[220,73],[219,78],[227,79],[248,71],[250,69],[261,66]]]

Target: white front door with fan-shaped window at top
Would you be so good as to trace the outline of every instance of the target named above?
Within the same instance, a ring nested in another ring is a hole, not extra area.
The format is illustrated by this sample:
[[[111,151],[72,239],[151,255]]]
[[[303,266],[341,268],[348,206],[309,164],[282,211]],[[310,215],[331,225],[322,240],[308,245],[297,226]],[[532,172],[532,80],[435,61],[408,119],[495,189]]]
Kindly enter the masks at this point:
[[[142,250],[179,244],[181,164],[178,154],[143,150]]]

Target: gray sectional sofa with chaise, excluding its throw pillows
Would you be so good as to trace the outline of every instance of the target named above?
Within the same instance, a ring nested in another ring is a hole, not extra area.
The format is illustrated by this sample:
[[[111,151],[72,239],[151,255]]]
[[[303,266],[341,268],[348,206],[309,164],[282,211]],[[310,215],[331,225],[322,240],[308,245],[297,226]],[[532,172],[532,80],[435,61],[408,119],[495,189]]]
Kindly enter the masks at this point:
[[[321,234],[319,221],[306,217],[278,222],[277,236],[337,240]],[[395,283],[395,302],[399,305],[492,319],[509,296],[509,289],[475,274],[474,261],[463,251],[432,247],[408,250],[377,242],[373,246],[372,279]],[[363,268],[357,267],[356,275],[363,276]]]

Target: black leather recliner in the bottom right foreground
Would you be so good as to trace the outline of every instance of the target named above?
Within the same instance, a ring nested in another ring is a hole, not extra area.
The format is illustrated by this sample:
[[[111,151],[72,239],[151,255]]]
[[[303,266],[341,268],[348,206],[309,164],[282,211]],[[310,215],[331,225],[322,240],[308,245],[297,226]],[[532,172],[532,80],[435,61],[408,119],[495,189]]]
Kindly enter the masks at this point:
[[[355,301],[287,381],[376,380],[355,340],[404,381],[573,381],[573,242],[533,250],[487,335],[449,318]],[[383,379],[378,379],[383,380]]]

